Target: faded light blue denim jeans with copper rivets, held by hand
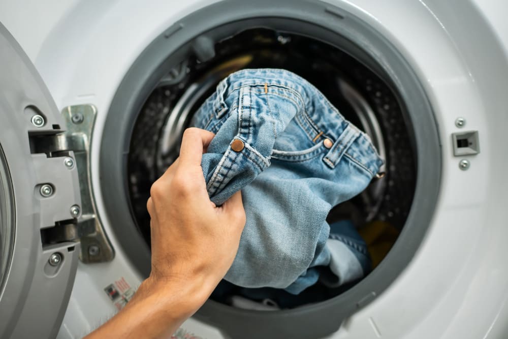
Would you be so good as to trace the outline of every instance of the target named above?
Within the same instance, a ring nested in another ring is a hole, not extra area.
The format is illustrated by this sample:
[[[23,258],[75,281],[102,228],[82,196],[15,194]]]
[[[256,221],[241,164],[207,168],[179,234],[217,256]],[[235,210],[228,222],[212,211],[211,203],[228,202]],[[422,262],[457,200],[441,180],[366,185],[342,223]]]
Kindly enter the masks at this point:
[[[314,86],[284,70],[221,81],[193,125],[215,133],[202,168],[217,205],[242,190],[247,222],[225,279],[298,294],[328,266],[330,286],[368,266],[356,230],[330,232],[331,207],[362,192],[383,161],[370,139]]]

